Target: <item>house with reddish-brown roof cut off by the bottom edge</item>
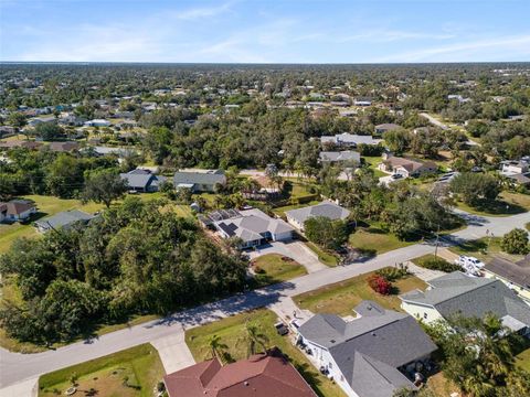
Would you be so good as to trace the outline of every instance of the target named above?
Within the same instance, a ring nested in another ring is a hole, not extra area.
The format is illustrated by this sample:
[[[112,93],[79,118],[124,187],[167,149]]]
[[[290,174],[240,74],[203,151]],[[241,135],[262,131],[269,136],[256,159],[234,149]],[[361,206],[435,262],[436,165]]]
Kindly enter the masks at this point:
[[[277,348],[226,365],[214,357],[166,375],[163,383],[169,397],[317,396]]]

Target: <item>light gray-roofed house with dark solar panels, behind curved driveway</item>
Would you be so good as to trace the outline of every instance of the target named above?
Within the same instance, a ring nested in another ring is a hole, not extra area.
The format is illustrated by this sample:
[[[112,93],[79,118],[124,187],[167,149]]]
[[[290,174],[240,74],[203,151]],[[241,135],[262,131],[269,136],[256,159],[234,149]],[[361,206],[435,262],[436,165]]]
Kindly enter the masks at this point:
[[[257,208],[244,211],[216,211],[208,216],[223,238],[241,238],[241,248],[257,247],[268,242],[293,238],[293,227],[279,218],[273,218]]]

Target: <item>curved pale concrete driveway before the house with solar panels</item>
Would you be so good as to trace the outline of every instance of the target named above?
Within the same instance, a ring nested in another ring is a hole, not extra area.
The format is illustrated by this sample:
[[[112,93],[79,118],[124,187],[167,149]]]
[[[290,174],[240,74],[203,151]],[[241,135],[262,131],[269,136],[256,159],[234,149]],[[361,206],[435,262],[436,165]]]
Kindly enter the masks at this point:
[[[309,273],[328,268],[318,260],[317,254],[310,250],[301,242],[273,242],[251,251],[248,255],[251,256],[251,259],[255,259],[266,254],[278,254],[293,258],[298,264],[303,265]]]

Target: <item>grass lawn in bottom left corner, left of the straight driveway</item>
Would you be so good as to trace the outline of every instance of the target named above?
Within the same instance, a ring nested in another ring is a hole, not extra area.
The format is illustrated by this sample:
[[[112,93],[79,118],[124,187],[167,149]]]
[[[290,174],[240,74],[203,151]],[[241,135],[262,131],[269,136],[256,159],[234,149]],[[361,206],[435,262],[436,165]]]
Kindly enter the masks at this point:
[[[43,375],[39,379],[39,396],[56,396],[55,389],[64,395],[72,374],[78,376],[78,393],[94,388],[96,396],[148,397],[166,373],[158,352],[147,343]]]

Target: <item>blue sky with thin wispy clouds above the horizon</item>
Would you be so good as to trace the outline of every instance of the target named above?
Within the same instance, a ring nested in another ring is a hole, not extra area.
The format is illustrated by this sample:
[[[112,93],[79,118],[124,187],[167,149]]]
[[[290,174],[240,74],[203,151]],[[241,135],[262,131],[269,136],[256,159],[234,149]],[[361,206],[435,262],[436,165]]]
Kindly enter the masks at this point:
[[[530,0],[0,0],[0,61],[530,61]]]

